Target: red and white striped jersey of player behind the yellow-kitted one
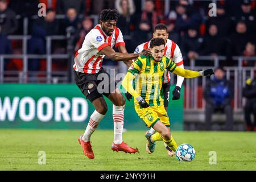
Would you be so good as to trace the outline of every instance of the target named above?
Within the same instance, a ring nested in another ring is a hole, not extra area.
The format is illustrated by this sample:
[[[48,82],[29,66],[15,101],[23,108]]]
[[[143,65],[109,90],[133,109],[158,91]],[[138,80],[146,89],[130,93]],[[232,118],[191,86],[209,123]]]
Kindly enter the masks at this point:
[[[150,41],[139,45],[135,49],[134,53],[142,52],[143,49],[148,49],[148,48],[150,48]],[[179,46],[177,46],[177,44],[174,41],[167,39],[166,47],[164,49],[164,55],[166,55],[168,59],[171,59],[172,61],[174,61],[174,63],[177,64],[178,67],[180,67],[181,65],[182,65],[181,67],[183,67],[183,57],[182,57],[180,48]],[[163,84],[166,84],[169,81],[170,81],[170,72],[166,69],[164,71]]]

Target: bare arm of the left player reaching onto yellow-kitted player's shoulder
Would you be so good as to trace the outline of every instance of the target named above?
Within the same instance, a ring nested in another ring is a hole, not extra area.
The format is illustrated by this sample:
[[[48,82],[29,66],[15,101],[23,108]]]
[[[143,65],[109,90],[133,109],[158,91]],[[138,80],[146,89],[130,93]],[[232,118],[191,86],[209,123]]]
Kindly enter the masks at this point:
[[[115,52],[114,49],[110,46],[106,46],[105,48],[101,49],[100,53],[102,55],[108,56],[110,59],[114,61],[127,61],[136,59],[139,56],[151,56],[151,52],[147,49],[144,49],[141,53],[121,53]]]

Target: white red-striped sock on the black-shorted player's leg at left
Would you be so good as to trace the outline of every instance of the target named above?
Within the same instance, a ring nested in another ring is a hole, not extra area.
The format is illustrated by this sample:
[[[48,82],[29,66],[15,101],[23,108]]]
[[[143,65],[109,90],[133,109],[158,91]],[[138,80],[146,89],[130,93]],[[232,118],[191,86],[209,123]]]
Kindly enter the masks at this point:
[[[90,121],[86,127],[82,140],[85,142],[90,141],[90,136],[92,136],[93,132],[97,129],[98,124],[101,122],[101,119],[103,119],[104,116],[105,115],[98,113],[97,110],[94,110],[93,114],[90,116]]]

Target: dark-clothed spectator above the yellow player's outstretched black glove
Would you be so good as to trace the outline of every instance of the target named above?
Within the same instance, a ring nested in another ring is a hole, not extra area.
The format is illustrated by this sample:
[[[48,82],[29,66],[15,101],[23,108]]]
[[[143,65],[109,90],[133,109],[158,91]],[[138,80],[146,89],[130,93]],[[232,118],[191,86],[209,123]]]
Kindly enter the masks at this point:
[[[229,40],[218,36],[218,27],[216,24],[211,24],[208,34],[204,37],[203,49],[200,55],[226,56],[229,53],[229,48]]]

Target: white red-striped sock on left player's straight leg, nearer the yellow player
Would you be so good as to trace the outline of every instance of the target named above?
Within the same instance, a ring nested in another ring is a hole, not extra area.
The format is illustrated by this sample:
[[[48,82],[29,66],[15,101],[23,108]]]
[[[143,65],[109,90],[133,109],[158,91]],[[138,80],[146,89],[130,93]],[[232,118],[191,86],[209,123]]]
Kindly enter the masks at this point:
[[[113,119],[114,119],[114,143],[121,144],[123,142],[123,113],[125,111],[125,105],[115,106],[113,105]]]

